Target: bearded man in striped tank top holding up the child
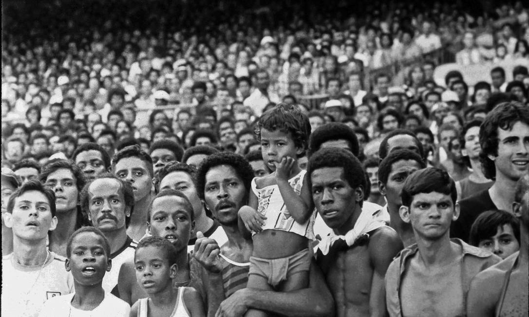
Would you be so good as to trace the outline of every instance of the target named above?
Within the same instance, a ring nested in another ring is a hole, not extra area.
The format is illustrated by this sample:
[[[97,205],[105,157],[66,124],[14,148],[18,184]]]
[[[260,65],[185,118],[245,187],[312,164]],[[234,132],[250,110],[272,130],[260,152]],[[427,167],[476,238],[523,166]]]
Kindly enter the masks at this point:
[[[198,170],[200,197],[227,235],[227,242],[223,245],[203,237],[200,232],[197,235],[194,257],[204,267],[208,313],[243,315],[252,308],[289,316],[331,315],[332,299],[314,263],[308,288],[294,292],[245,288],[253,244],[251,238],[243,236],[239,230],[238,211],[248,201],[253,176],[248,161],[228,152],[207,157]]]

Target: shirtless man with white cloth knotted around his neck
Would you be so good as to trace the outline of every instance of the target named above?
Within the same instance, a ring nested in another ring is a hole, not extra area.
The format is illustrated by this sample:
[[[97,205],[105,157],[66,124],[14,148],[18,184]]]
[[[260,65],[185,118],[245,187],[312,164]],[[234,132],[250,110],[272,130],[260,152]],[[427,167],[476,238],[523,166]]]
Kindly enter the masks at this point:
[[[402,249],[395,230],[362,210],[362,165],[350,152],[323,148],[311,156],[307,174],[314,205],[332,232],[316,249],[318,265],[336,302],[336,315],[385,316],[384,276]]]

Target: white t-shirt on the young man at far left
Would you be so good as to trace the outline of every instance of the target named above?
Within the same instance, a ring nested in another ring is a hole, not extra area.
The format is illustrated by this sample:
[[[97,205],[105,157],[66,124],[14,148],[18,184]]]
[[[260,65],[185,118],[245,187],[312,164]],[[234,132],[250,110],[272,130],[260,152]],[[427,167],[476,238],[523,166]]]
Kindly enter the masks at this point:
[[[74,277],[66,272],[66,259],[50,251],[47,262],[26,267],[2,257],[2,316],[37,317],[42,305],[55,296],[74,291]]]

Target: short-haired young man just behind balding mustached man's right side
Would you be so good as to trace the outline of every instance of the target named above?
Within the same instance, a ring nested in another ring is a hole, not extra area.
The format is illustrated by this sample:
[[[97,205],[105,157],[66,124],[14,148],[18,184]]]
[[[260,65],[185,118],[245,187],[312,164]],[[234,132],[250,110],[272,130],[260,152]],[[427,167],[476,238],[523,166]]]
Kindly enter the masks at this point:
[[[112,159],[112,171],[121,180],[129,182],[134,192],[134,210],[127,235],[138,241],[147,230],[147,213],[152,201],[154,171],[149,154],[139,145],[130,145],[117,152]]]

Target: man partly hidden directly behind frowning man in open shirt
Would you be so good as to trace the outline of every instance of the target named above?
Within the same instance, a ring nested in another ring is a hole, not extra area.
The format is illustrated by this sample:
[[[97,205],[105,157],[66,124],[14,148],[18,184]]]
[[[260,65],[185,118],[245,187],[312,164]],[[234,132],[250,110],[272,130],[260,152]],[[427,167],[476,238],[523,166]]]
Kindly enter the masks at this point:
[[[400,218],[400,194],[408,176],[424,167],[426,164],[421,156],[410,150],[391,152],[378,166],[378,187],[388,202],[385,208],[389,213],[389,226],[397,231],[405,247],[415,243],[415,236],[412,226]]]

